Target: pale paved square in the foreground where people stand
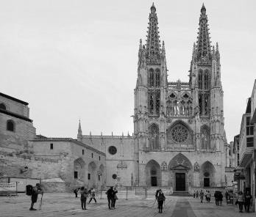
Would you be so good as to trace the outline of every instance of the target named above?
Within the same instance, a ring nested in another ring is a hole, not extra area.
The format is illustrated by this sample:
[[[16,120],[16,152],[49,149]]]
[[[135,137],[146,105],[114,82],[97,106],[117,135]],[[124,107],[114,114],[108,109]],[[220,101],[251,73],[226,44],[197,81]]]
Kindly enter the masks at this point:
[[[0,216],[168,216],[168,217],[237,217],[255,216],[255,213],[238,213],[235,205],[216,206],[214,202],[201,203],[199,199],[184,196],[166,196],[163,213],[158,213],[157,204],[154,197],[148,199],[121,198],[116,202],[115,210],[108,210],[106,199],[97,199],[87,205],[88,210],[80,209],[80,199],[75,198],[74,194],[44,194],[42,210],[29,211],[30,197],[25,194],[19,196],[0,197]],[[35,208],[40,204],[40,196]]]

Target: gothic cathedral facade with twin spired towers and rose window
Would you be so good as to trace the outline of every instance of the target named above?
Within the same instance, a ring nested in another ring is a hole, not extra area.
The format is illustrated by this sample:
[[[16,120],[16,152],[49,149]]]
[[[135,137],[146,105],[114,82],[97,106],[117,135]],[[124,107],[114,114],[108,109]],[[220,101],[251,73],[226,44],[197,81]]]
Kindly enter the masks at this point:
[[[134,139],[139,185],[173,191],[224,186],[227,139],[218,43],[210,45],[204,4],[193,44],[189,81],[168,81],[154,4],[146,44],[140,42]],[[171,77],[171,72],[170,72]]]

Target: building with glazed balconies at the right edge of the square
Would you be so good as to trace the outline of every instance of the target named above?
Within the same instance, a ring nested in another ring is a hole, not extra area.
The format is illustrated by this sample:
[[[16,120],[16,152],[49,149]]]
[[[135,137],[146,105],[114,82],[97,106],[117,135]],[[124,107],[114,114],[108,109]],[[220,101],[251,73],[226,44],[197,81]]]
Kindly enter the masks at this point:
[[[234,137],[235,187],[238,191],[249,191],[255,210],[256,195],[256,80],[252,95],[248,98],[246,112],[241,119],[240,133]]]

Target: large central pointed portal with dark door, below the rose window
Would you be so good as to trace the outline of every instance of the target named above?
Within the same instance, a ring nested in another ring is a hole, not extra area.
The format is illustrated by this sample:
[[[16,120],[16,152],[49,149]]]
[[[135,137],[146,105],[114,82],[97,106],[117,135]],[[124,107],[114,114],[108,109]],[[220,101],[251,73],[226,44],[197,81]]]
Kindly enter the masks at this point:
[[[168,169],[171,170],[171,186],[174,191],[188,191],[188,186],[191,185],[191,161],[179,153],[171,159]]]

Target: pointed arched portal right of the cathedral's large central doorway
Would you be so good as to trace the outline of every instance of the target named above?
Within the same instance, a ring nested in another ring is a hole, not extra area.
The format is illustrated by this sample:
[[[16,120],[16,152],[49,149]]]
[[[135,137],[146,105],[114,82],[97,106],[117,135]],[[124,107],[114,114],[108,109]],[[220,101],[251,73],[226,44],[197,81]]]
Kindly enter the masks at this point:
[[[215,172],[216,169],[214,168],[213,163],[210,163],[210,161],[205,161],[205,163],[202,164],[200,170],[200,185],[202,187],[214,187]]]

